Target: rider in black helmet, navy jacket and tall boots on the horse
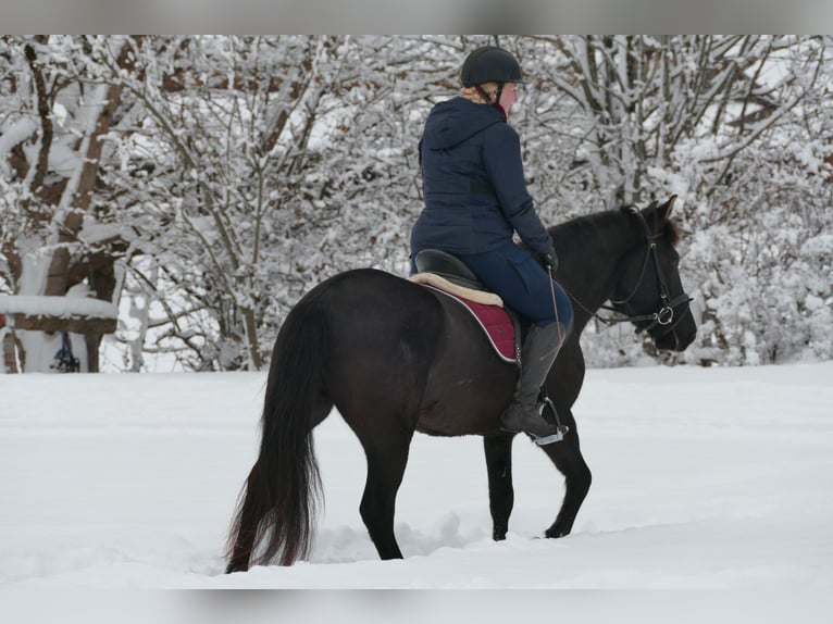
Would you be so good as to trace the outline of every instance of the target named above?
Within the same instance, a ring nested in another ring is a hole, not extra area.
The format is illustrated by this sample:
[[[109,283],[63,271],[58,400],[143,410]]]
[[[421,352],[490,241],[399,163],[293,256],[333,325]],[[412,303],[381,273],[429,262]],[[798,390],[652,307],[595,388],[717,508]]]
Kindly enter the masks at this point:
[[[486,46],[467,57],[460,77],[460,96],[431,110],[420,140],[425,207],[411,232],[411,267],[423,249],[451,253],[533,323],[500,426],[545,438],[557,429],[538,413],[538,392],[573,310],[552,279],[556,250],[526,191],[520,138],[507,123],[521,66],[507,50]],[[527,250],[513,242],[513,232]]]

